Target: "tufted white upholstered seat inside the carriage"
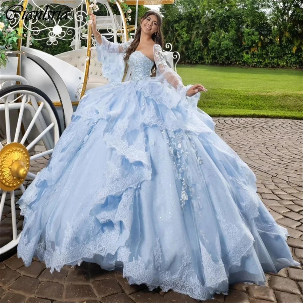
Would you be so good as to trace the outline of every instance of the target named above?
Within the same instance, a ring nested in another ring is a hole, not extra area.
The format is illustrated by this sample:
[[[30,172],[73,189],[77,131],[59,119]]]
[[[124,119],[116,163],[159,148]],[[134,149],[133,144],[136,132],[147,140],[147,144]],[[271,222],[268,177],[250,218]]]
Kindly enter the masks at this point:
[[[75,66],[83,73],[85,72],[86,48],[64,52],[62,54],[55,55],[55,57]],[[102,64],[97,59],[95,48],[92,48],[86,90],[106,83],[108,83],[108,79],[103,77]]]

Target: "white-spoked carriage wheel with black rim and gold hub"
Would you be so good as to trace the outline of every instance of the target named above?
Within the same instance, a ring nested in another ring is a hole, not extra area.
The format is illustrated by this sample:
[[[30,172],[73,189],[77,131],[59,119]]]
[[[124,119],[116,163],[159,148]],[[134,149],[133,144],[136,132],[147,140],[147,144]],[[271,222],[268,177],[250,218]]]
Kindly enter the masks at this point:
[[[0,117],[0,255],[3,256],[15,248],[21,235],[22,219],[16,216],[16,208],[19,212],[16,202],[46,165],[61,127],[52,101],[30,85],[12,85],[0,90]]]

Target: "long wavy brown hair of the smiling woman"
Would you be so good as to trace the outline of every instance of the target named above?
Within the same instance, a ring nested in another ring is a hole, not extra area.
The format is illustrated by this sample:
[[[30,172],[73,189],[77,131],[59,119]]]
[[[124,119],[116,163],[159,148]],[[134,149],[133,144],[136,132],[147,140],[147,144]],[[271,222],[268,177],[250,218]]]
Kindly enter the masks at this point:
[[[161,30],[161,26],[162,26],[162,18],[161,16],[155,12],[155,11],[148,11],[146,12],[141,20],[140,20],[140,24],[142,23],[142,21],[144,19],[146,19],[148,16],[150,15],[154,15],[158,18],[158,28],[157,28],[157,31],[152,34],[151,38],[155,41],[156,44],[159,44],[161,45],[161,47],[163,48],[163,45],[164,45],[164,38],[163,38],[163,34],[162,34],[162,30]],[[139,42],[140,42],[140,37],[141,37],[141,25],[138,26],[137,28],[137,31],[136,31],[136,34],[135,34],[135,38],[133,40],[133,42],[131,43],[131,45],[129,46],[129,48],[127,49],[127,51],[125,52],[125,57],[124,57],[124,60],[127,61],[129,59],[129,56],[135,52],[135,50],[137,49],[138,45],[139,45]],[[154,64],[154,66],[151,68],[151,74],[153,76],[156,75],[156,64]]]

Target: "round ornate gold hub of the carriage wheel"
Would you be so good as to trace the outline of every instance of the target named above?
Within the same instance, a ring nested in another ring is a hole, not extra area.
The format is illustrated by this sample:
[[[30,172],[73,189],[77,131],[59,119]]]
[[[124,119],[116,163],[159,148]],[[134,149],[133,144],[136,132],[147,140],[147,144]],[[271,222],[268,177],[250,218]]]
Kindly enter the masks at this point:
[[[29,153],[24,145],[13,142],[0,151],[0,188],[13,191],[25,180],[29,170]]]

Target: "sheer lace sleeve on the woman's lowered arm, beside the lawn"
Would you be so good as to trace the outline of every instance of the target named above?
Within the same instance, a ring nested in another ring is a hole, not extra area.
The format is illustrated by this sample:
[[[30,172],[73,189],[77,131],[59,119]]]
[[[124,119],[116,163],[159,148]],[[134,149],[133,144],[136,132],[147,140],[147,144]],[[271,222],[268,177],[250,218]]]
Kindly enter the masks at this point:
[[[186,96],[188,89],[192,85],[183,85],[181,77],[168,66],[162,48],[159,44],[154,45],[154,60],[157,67],[156,79],[161,82],[168,82],[180,95],[181,102],[184,105],[185,103],[188,103],[186,107],[196,109],[200,98],[200,92],[192,97]]]

